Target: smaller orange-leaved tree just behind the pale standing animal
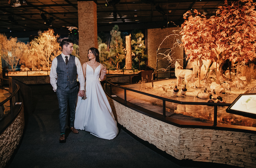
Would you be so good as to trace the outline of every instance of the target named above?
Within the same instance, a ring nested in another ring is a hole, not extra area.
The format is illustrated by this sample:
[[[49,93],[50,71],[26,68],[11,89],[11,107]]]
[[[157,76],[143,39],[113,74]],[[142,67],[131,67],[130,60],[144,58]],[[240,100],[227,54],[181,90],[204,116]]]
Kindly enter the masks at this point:
[[[200,87],[202,59],[213,59],[213,48],[216,48],[215,36],[212,33],[214,27],[211,23],[212,20],[208,20],[196,9],[187,11],[183,15],[183,19],[185,22],[181,26],[180,35],[187,59],[195,61],[198,65],[197,73]]]

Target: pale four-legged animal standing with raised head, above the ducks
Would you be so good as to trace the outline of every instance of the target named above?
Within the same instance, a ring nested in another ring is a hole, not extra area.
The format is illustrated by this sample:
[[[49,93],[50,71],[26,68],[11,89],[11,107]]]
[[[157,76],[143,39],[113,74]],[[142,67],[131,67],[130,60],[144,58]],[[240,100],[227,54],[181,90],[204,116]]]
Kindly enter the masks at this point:
[[[175,63],[175,76],[177,78],[177,86],[181,83],[182,79],[185,78],[186,85],[191,81],[194,82],[195,88],[195,74],[192,70],[183,70],[183,67],[180,66],[178,61]]]

